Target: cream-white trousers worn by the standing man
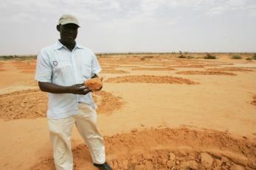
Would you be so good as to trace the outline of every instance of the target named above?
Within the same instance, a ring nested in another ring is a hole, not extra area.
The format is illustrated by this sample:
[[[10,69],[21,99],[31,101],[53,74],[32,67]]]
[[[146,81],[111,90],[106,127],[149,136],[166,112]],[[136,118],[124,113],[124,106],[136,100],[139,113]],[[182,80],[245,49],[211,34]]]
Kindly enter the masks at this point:
[[[93,162],[105,163],[104,141],[97,129],[97,113],[91,106],[80,103],[77,115],[68,118],[48,118],[48,124],[57,170],[73,169],[71,133],[74,124],[87,146],[89,146]]]

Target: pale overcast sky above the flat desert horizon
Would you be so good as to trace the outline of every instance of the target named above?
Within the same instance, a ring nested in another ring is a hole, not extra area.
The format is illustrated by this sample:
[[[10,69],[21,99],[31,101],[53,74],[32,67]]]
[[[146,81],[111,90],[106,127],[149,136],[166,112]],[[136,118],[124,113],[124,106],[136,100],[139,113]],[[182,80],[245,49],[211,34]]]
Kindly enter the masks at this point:
[[[0,55],[55,43],[62,14],[99,52],[256,52],[256,0],[0,0]]]

